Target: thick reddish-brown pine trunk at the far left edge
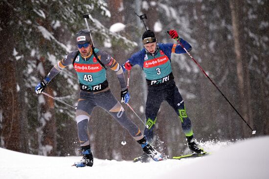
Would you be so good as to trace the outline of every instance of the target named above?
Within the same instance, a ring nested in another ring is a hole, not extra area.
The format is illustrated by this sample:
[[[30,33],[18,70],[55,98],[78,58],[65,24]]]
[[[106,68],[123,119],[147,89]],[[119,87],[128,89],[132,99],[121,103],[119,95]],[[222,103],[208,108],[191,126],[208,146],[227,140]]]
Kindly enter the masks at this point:
[[[20,108],[18,106],[16,63],[12,56],[14,44],[13,33],[9,29],[9,7],[5,3],[0,3],[0,116],[1,129],[0,137],[6,149],[20,151]]]

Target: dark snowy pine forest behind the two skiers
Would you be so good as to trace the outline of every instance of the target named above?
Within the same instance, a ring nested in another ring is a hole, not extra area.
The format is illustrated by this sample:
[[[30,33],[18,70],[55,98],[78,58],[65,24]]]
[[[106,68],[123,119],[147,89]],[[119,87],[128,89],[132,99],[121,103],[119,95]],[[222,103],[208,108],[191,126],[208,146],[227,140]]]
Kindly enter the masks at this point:
[[[120,64],[142,48],[145,28],[135,13],[146,13],[158,43],[176,43],[166,33],[176,29],[192,45],[192,56],[257,131],[255,136],[268,135],[268,12],[269,0],[1,0],[0,147],[45,156],[79,154],[75,110],[34,89],[58,60],[76,49],[74,34],[86,28],[86,13],[94,45]],[[254,136],[187,54],[173,54],[172,67],[199,142]],[[107,70],[107,76],[119,100],[116,75]],[[144,119],[147,86],[140,67],[131,70],[129,91],[129,104]],[[58,74],[45,92],[75,106],[79,87],[73,67]],[[94,157],[130,160],[141,154],[128,132],[100,108],[93,111],[89,130]],[[158,150],[167,155],[187,149],[179,117],[167,102],[158,112],[155,132],[163,141],[161,148],[156,144]]]

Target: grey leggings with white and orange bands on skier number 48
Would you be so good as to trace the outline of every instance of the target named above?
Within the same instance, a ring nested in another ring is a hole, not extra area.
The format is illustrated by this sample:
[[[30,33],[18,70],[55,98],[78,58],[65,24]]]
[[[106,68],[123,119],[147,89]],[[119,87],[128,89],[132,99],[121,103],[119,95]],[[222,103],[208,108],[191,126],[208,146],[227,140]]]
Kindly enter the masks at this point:
[[[113,96],[111,90],[97,94],[81,90],[76,110],[78,138],[81,146],[90,145],[88,123],[90,114],[93,108],[96,106],[99,106],[109,112],[121,126],[127,129],[135,140],[140,140],[143,138],[143,134],[140,132],[139,128],[126,116],[124,109]]]

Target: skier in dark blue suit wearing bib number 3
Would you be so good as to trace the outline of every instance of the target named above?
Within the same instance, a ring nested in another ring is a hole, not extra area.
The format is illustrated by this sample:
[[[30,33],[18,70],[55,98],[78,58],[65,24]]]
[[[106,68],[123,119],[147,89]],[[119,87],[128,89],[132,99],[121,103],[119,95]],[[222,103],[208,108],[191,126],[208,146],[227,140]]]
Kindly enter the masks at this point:
[[[177,31],[170,30],[169,35],[173,39],[180,39],[180,43],[190,51],[191,45],[179,38]],[[149,142],[153,141],[154,127],[157,122],[157,112],[163,101],[177,112],[182,126],[182,130],[187,137],[189,149],[192,152],[202,154],[203,149],[194,141],[193,130],[190,118],[186,113],[184,101],[175,85],[171,67],[172,53],[185,53],[185,50],[177,44],[157,44],[153,31],[146,31],[142,36],[142,43],[145,48],[134,53],[123,65],[123,71],[131,70],[134,65],[139,65],[145,74],[148,85],[148,96],[146,102],[146,124],[144,135]],[[143,154],[141,157],[134,158],[134,161],[149,161],[149,157]]]

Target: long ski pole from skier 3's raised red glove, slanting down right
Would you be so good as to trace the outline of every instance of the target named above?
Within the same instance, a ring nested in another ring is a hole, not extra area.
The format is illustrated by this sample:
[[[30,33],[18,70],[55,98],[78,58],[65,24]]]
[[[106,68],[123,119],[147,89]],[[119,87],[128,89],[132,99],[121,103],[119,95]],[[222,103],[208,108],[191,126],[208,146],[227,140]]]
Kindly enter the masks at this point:
[[[169,31],[167,31],[169,34]],[[169,34],[170,35],[170,34]],[[217,87],[217,85],[211,80],[211,78],[206,74],[206,72],[202,69],[202,67],[199,65],[199,63],[192,57],[192,55],[188,52],[188,50],[184,47],[184,45],[179,41],[179,39],[176,39],[176,41],[179,43],[179,45],[186,51],[186,53],[191,57],[191,59],[196,63],[196,65],[201,69],[203,74],[210,80],[210,82],[216,87],[217,90],[223,95],[223,97],[226,99],[226,101],[231,105],[231,107],[234,109],[234,111],[241,117],[241,119],[247,124],[249,129],[252,131],[252,134],[256,134],[256,131],[254,131],[247,121],[243,118],[243,116],[235,109],[235,107],[231,104],[231,102],[226,98],[226,96],[223,94],[223,92]]]

